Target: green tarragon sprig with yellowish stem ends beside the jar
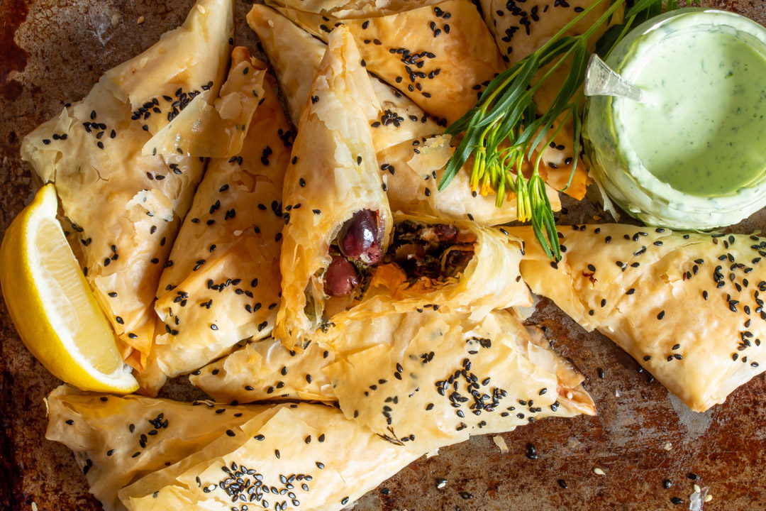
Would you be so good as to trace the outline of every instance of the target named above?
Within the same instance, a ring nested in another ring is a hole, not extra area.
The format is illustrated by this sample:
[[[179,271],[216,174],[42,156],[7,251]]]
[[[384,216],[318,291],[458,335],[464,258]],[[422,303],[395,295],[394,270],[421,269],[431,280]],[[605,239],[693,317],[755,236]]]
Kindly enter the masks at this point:
[[[496,205],[500,207],[506,192],[516,194],[516,206],[519,221],[530,221],[535,237],[553,260],[561,259],[555,218],[545,182],[538,172],[542,150],[533,162],[532,175],[525,179],[522,165],[532,162],[535,149],[545,140],[554,139],[558,130],[568,120],[572,121],[572,148],[575,156],[572,161],[569,182],[571,183],[578,165],[581,152],[582,107],[584,95],[581,92],[588,67],[588,43],[596,31],[611,21],[614,13],[627,5],[624,23],[613,25],[597,41],[597,53],[605,55],[635,25],[660,14],[663,11],[662,0],[611,0],[611,5],[604,14],[584,31],[576,36],[565,35],[581,18],[587,16],[597,5],[606,0],[595,0],[577,17],[561,28],[548,42],[537,51],[519,61],[518,64],[503,71],[492,80],[482,93],[478,103],[459,120],[447,127],[446,133],[456,136],[463,133],[463,139],[452,159],[447,163],[444,175],[439,182],[439,189],[444,189],[454,178],[463,164],[473,155],[473,169],[470,186],[483,195],[496,192]],[[666,9],[678,7],[677,0],[668,0]],[[535,104],[535,92],[561,67],[570,63],[566,80],[555,97],[552,105],[542,115],[538,115]],[[552,64],[545,74],[532,84],[532,78],[542,67]],[[553,130],[555,121],[562,118]]]

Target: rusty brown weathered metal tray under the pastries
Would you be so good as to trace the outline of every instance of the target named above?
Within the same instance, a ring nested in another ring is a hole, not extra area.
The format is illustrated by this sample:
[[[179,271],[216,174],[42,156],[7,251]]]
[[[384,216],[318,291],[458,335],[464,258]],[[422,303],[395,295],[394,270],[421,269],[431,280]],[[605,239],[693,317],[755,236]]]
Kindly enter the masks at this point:
[[[178,25],[192,0],[5,0],[0,2],[0,235],[31,196],[18,151],[21,138],[83,97],[103,71],[133,56]],[[766,23],[763,0],[706,5]],[[237,2],[237,44],[255,47]],[[141,24],[137,23],[143,17]],[[693,93],[693,84],[689,87]],[[568,205],[562,224],[591,221],[588,203]],[[732,231],[766,224],[761,211]],[[709,486],[704,509],[766,508],[764,377],[735,391],[705,414],[689,411],[603,336],[587,334],[543,300],[533,320],[588,377],[598,415],[545,420],[503,434],[446,447],[417,460],[362,498],[355,509],[689,509],[692,484]],[[700,318],[704,321],[704,318]],[[599,377],[603,372],[603,378]],[[58,381],[21,344],[0,302],[0,509],[100,509],[87,493],[69,450],[44,440],[43,398]],[[165,395],[188,397],[188,385]],[[538,458],[525,456],[533,444]],[[669,449],[666,449],[669,447]],[[594,468],[604,475],[594,473]],[[699,478],[692,481],[687,474]],[[437,478],[447,480],[438,489]],[[663,480],[673,486],[663,488]],[[563,488],[558,480],[564,480]],[[682,504],[674,505],[678,496]]]

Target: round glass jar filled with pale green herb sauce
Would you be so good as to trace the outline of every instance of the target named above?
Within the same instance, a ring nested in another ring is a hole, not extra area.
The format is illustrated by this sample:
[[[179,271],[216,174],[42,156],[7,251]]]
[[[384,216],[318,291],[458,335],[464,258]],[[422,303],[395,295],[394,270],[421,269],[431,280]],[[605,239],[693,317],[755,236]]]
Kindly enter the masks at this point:
[[[683,8],[630,31],[606,63],[643,92],[586,105],[591,175],[620,208],[702,230],[766,206],[766,29]]]

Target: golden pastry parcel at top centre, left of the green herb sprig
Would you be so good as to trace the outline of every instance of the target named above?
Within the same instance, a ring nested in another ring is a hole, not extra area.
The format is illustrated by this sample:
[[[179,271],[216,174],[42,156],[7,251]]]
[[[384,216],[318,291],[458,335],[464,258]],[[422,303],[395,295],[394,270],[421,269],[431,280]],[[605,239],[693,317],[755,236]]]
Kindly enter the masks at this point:
[[[325,41],[334,27],[347,26],[367,70],[446,123],[470,110],[478,93],[503,68],[492,34],[469,0],[396,2],[391,10],[373,15],[358,7],[336,11],[342,18],[322,14],[322,2],[297,9],[267,3]],[[310,11],[317,6],[319,12]]]

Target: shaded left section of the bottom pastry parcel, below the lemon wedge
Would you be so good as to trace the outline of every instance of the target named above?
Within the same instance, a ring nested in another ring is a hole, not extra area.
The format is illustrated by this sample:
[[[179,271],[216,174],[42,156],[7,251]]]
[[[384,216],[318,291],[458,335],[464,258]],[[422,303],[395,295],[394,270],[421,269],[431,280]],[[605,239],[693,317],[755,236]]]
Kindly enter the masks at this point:
[[[47,398],[45,437],[74,451],[90,493],[112,511],[125,509],[117,500],[124,486],[182,460],[268,408],[101,395],[61,385]]]

